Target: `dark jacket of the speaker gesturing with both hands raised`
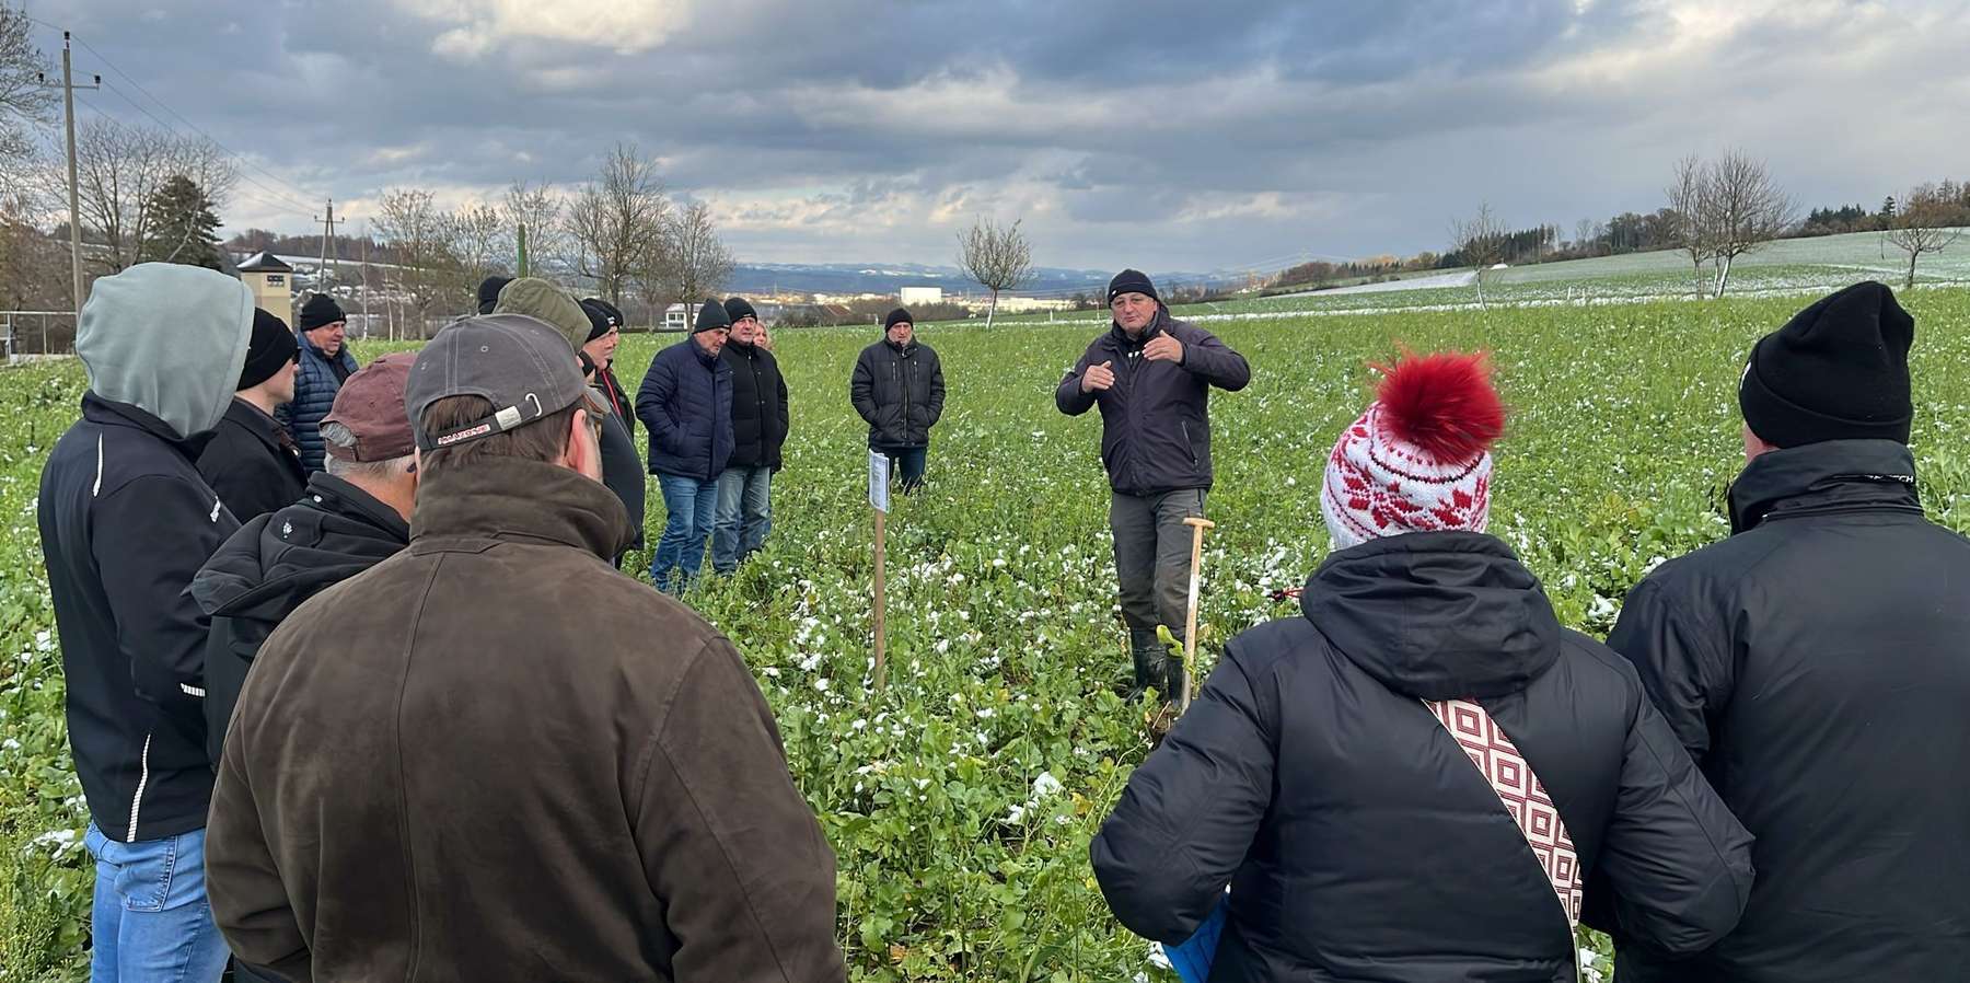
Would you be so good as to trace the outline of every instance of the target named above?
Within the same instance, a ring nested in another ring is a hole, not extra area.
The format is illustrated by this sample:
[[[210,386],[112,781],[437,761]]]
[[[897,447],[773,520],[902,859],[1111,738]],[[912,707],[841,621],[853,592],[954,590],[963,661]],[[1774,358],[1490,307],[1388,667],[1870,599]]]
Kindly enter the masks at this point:
[[[1182,341],[1184,360],[1143,359],[1143,347],[1156,335]],[[1082,372],[1101,362],[1115,370],[1115,384],[1082,392]],[[1210,388],[1237,392],[1249,382],[1251,366],[1243,355],[1164,309],[1139,339],[1111,325],[1087,345],[1082,360],[1054,388],[1054,404],[1068,416],[1099,404],[1101,465],[1107,467],[1109,487],[1123,494],[1160,494],[1212,487]]]

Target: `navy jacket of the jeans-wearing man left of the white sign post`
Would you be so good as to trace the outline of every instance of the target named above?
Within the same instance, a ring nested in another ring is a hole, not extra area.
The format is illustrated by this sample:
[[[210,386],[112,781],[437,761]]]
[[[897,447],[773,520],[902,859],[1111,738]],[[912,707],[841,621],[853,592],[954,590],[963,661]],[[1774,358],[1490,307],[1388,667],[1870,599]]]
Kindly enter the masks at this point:
[[[636,420],[650,429],[650,473],[711,481],[733,455],[733,366],[695,337],[660,353],[636,390]]]

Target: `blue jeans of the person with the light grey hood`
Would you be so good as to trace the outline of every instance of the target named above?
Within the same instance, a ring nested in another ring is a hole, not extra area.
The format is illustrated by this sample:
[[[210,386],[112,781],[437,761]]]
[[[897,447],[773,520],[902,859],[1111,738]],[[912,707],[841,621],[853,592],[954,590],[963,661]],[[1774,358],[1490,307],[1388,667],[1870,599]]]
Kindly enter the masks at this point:
[[[205,900],[205,829],[116,843],[89,823],[97,859],[91,914],[93,983],[211,983],[227,969],[227,940]]]

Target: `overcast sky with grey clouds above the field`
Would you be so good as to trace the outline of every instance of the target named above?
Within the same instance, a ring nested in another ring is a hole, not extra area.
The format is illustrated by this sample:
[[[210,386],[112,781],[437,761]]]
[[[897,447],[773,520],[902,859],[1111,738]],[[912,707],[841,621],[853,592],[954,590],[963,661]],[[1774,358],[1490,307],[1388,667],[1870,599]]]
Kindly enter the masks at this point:
[[[18,2],[18,0],[0,0]],[[110,87],[254,165],[229,229],[321,197],[569,189],[634,142],[741,262],[1279,268],[1653,211],[1743,148],[1810,205],[1970,177],[1970,0],[28,0]],[[55,53],[59,35],[39,30]],[[98,63],[108,61],[110,71]],[[134,79],[134,85],[132,85]],[[146,89],[189,120],[162,110]],[[126,100],[128,98],[128,100]],[[148,122],[148,120],[144,120]],[[264,185],[264,187],[262,187]]]

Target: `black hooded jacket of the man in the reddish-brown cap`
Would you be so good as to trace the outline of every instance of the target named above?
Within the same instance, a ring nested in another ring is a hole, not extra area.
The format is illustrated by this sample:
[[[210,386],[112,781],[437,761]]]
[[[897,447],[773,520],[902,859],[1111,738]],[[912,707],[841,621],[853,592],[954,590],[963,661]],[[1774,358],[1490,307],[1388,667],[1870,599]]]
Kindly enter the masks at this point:
[[[205,751],[219,766],[227,721],[260,644],[301,601],[362,573],[410,544],[410,522],[329,473],[299,502],[240,526],[191,579],[213,619],[205,646]]]

